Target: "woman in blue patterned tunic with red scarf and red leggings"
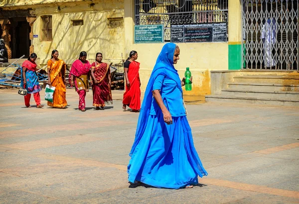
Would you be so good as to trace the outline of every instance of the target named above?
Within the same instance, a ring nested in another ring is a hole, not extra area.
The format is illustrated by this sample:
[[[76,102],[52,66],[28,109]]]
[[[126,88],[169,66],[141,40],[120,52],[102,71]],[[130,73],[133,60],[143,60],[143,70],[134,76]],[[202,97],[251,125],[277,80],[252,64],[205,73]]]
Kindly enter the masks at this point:
[[[31,107],[30,98],[31,94],[33,94],[36,107],[41,108],[43,107],[43,105],[40,104],[39,95],[41,88],[39,86],[38,77],[35,72],[37,66],[35,63],[36,58],[37,55],[35,53],[32,53],[28,60],[23,62],[20,87],[25,88],[27,90],[27,95],[24,96],[26,107]]]

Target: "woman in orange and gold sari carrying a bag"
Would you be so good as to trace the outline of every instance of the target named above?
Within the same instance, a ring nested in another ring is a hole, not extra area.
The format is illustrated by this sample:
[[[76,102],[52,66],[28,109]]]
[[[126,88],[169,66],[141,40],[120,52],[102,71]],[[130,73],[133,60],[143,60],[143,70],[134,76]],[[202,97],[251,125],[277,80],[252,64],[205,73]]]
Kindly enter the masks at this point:
[[[48,102],[49,106],[66,108],[67,102],[65,98],[65,70],[66,64],[58,59],[59,53],[57,50],[52,51],[52,58],[48,60],[48,85],[55,87],[53,93],[53,103]]]

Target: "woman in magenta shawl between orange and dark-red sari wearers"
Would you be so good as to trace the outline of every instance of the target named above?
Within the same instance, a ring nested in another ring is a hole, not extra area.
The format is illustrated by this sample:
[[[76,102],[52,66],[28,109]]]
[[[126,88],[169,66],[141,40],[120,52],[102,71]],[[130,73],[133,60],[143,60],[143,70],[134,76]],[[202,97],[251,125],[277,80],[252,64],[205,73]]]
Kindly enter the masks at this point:
[[[79,95],[79,110],[85,111],[85,96],[86,92],[89,92],[89,82],[92,85],[91,76],[89,74],[91,65],[86,60],[87,53],[85,51],[80,52],[78,60],[72,64],[72,68],[69,75],[70,85],[74,86]],[[89,80],[88,80],[89,79]]]

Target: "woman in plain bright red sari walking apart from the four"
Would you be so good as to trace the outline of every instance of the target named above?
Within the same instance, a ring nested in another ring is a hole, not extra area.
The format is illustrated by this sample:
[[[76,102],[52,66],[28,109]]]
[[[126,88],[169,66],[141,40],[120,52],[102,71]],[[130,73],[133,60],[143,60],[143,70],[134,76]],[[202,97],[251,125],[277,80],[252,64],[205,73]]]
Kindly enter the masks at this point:
[[[136,51],[130,52],[130,57],[124,64],[125,77],[126,77],[126,92],[124,94],[123,109],[127,110],[127,105],[132,109],[132,112],[140,111],[140,78],[139,69],[140,63],[135,61],[138,58]]]

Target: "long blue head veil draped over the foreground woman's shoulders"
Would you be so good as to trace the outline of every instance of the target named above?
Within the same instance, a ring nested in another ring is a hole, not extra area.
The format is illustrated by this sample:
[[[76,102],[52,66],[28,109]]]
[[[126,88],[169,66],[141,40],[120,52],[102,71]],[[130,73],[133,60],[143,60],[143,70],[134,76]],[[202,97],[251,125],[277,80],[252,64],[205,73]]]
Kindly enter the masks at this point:
[[[163,46],[157,58],[157,61],[153,67],[152,73],[149,78],[149,83],[145,92],[145,97],[141,106],[138,124],[137,124],[137,130],[135,134],[135,141],[132,146],[131,152],[129,154],[130,156],[132,156],[136,146],[138,145],[142,135],[145,132],[148,123],[148,118],[149,118],[150,106],[152,102],[152,86],[157,76],[163,75],[169,79],[174,80],[177,84],[178,89],[182,92],[181,81],[177,74],[177,70],[173,66],[174,51],[175,51],[175,44],[166,43]]]

